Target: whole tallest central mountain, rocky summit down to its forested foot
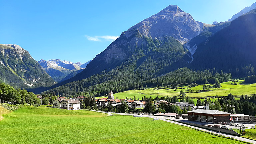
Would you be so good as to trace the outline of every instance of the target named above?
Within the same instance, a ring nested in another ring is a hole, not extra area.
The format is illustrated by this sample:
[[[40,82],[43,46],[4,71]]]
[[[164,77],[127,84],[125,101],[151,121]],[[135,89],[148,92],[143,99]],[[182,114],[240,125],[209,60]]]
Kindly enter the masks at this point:
[[[182,43],[202,32],[203,25],[170,5],[123,32],[81,73],[53,87],[64,85],[71,93],[110,80],[140,83],[186,66],[192,59]]]

